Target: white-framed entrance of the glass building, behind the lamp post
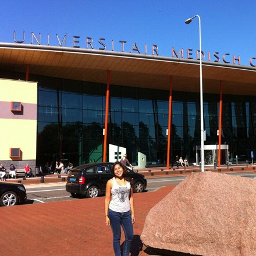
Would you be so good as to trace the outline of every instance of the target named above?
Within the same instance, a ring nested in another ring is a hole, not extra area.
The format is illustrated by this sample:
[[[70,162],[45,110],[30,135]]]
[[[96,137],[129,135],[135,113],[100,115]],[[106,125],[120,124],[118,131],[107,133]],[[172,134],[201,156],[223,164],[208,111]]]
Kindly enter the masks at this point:
[[[196,146],[196,164],[200,165],[201,145]],[[204,163],[205,165],[218,165],[219,145],[204,145]],[[229,145],[221,145],[221,165],[226,165],[229,161]]]

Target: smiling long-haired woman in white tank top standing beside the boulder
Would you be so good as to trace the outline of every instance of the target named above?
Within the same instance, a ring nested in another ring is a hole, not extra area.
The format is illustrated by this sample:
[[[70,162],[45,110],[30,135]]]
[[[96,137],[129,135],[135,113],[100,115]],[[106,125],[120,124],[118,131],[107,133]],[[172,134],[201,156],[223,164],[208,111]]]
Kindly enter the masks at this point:
[[[134,206],[133,184],[125,166],[120,162],[113,164],[114,177],[106,183],[105,222],[113,232],[115,256],[121,256],[121,226],[125,232],[123,256],[129,256],[133,240]]]

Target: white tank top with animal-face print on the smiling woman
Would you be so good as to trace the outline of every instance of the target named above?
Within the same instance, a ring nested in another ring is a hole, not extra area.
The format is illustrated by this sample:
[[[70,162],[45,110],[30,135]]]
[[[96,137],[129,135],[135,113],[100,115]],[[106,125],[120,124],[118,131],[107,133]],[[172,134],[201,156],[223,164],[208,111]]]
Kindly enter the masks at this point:
[[[115,177],[113,177],[113,186],[111,189],[112,199],[109,204],[109,209],[114,212],[128,212],[130,211],[130,190],[131,184],[127,182],[125,186],[120,186],[116,183]]]

